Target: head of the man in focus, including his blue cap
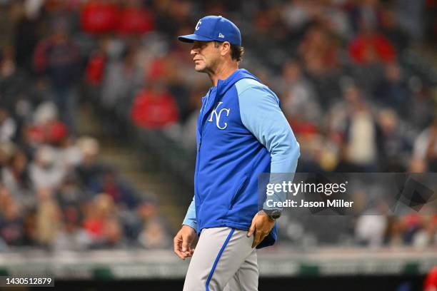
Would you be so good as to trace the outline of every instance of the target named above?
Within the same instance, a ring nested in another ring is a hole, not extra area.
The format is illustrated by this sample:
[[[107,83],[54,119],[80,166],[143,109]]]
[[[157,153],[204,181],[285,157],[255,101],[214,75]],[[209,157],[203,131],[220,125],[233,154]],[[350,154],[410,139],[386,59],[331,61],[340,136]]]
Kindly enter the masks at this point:
[[[240,62],[243,56],[238,27],[222,16],[200,19],[194,34],[179,36],[180,41],[193,43],[191,55],[199,72],[215,71],[221,63]]]

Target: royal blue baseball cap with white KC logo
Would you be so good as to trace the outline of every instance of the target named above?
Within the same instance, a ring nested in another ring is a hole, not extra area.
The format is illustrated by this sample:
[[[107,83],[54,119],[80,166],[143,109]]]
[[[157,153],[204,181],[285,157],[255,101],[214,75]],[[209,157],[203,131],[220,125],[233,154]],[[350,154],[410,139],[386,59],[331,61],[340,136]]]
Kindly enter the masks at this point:
[[[223,16],[205,16],[199,20],[194,34],[178,36],[179,41],[192,43],[194,41],[228,41],[230,44],[241,46],[241,34],[232,21]]]

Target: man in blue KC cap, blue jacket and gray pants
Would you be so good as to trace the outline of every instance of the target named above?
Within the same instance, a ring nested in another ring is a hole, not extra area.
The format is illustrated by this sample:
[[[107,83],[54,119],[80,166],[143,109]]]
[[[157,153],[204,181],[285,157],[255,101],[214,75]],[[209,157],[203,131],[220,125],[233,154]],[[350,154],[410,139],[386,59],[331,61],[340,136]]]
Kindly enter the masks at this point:
[[[255,247],[273,245],[281,215],[262,201],[258,207],[258,175],[294,172],[299,146],[275,93],[238,69],[243,48],[235,24],[206,16],[179,40],[194,43],[195,69],[213,84],[199,114],[194,198],[174,238],[181,259],[193,256],[184,290],[258,290]]]

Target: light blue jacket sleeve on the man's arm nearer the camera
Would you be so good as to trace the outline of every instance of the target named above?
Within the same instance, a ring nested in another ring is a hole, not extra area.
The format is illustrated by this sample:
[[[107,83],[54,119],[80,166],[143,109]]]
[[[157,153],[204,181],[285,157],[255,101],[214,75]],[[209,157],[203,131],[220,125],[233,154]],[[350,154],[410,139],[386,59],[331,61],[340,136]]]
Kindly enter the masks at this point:
[[[270,153],[271,173],[295,173],[300,148],[276,94],[262,83],[248,78],[238,81],[236,89],[241,121]],[[286,198],[286,193],[269,196],[277,202]],[[266,203],[264,208],[268,208]]]

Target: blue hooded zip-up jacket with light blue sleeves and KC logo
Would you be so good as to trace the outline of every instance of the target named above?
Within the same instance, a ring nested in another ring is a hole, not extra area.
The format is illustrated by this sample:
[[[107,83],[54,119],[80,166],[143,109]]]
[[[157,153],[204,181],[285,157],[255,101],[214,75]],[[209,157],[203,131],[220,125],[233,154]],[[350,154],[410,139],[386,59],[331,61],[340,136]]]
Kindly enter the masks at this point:
[[[219,80],[202,98],[194,198],[183,224],[199,235],[204,228],[248,230],[262,208],[258,175],[294,173],[298,156],[273,91],[245,69]],[[285,200],[281,194],[270,198]],[[273,245],[276,237],[275,225],[258,248]]]

